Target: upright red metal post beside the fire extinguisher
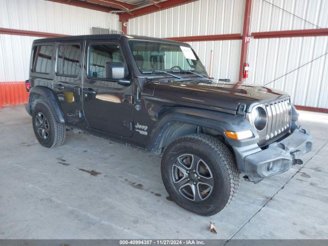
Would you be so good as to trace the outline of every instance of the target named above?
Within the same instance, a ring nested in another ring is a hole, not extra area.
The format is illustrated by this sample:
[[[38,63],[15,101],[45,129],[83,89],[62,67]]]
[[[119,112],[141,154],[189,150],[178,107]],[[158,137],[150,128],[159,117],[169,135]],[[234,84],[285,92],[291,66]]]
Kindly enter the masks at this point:
[[[239,79],[238,79],[239,82],[242,81],[243,66],[247,59],[248,42],[246,42],[246,38],[250,35],[251,10],[252,10],[252,0],[246,0],[244,24],[242,28],[241,55],[240,55]]]

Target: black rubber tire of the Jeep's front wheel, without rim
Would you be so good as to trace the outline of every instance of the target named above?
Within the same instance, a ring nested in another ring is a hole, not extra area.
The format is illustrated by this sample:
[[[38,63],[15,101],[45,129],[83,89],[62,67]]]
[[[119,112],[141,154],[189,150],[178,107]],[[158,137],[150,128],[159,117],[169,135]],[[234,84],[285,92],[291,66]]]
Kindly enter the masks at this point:
[[[211,169],[214,186],[206,200],[189,200],[174,187],[172,166],[184,153],[201,157]],[[202,216],[214,215],[226,208],[239,189],[239,171],[233,154],[221,141],[207,134],[191,134],[174,140],[163,153],[161,175],[170,198],[180,207]]]

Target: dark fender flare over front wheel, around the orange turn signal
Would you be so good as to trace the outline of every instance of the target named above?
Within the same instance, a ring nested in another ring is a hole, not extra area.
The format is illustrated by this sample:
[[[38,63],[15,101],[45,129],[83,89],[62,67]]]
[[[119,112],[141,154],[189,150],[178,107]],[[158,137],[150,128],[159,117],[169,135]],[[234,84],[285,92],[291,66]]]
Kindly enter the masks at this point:
[[[152,129],[146,149],[154,151],[164,147],[162,146],[163,137],[165,137],[165,132],[174,122],[214,129],[224,137],[229,145],[236,147],[255,144],[259,138],[250,122],[243,117],[202,109],[170,108],[161,115],[155,127]],[[243,130],[251,130],[254,137],[245,140],[235,140],[228,138],[224,134],[224,131],[238,132]]]

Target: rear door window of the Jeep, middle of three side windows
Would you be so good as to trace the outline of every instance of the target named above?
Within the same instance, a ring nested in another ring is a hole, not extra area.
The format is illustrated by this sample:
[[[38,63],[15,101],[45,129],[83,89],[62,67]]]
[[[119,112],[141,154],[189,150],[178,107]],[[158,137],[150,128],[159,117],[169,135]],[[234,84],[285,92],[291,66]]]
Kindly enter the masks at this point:
[[[57,53],[57,74],[77,77],[80,72],[80,46],[59,45]]]

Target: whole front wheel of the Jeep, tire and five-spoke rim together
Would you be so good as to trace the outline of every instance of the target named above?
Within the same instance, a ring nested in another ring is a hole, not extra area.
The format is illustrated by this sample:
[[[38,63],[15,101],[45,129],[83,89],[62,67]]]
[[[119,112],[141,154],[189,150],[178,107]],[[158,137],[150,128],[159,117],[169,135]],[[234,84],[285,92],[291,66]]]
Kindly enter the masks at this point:
[[[231,151],[206,134],[174,140],[163,154],[161,174],[172,200],[203,216],[220,212],[239,188],[239,171]]]

